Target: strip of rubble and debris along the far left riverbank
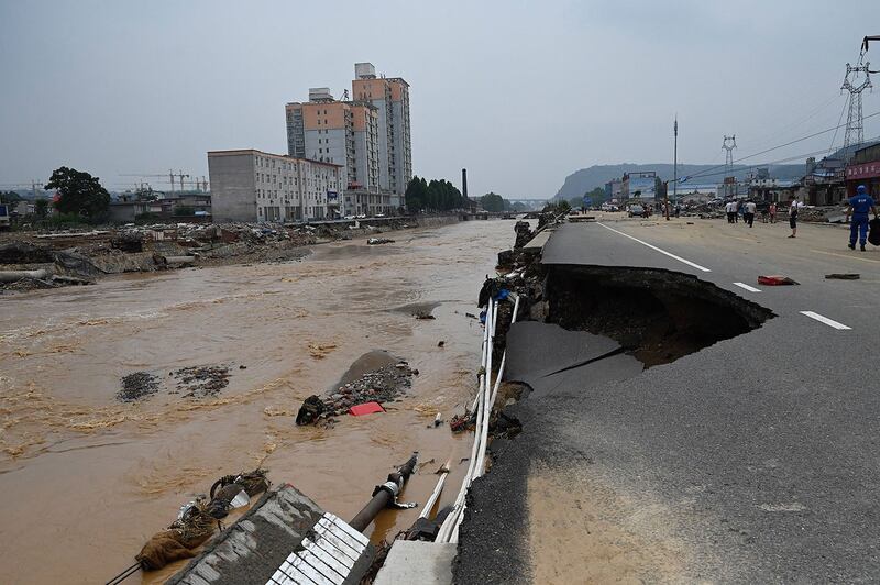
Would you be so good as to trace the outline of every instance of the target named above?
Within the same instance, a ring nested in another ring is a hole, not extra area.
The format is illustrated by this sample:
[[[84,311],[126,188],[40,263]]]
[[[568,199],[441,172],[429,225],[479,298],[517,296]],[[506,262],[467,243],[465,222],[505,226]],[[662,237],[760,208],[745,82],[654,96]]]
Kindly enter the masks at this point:
[[[0,235],[0,294],[92,285],[102,276],[297,261],[309,246],[461,221],[460,214],[350,223],[174,223]]]

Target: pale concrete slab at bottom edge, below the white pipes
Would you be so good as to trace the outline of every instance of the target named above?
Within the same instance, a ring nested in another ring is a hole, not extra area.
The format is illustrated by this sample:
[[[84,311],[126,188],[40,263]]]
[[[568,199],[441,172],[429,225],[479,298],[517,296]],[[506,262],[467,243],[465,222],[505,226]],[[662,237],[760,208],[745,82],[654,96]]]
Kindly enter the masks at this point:
[[[452,543],[396,540],[374,584],[450,585],[454,558]]]

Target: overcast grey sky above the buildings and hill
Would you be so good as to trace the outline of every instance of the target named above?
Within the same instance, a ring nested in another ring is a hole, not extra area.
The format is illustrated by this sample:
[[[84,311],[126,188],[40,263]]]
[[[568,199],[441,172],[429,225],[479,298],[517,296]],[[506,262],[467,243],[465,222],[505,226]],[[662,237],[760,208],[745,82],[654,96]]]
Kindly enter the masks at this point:
[[[671,162],[675,112],[688,163],[723,162],[725,133],[746,156],[836,125],[866,34],[880,1],[0,0],[0,184],[286,153],[284,104],[339,96],[369,60],[411,86],[416,174],[547,197],[593,164]]]

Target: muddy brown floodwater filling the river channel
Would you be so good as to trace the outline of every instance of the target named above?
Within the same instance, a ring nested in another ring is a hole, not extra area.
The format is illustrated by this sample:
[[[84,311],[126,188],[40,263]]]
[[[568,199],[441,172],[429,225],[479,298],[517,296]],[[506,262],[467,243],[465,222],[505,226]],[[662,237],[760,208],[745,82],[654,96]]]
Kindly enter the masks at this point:
[[[217,477],[257,466],[349,518],[419,451],[435,462],[410,479],[405,499],[424,503],[450,457],[441,504],[454,499],[471,437],[432,421],[473,396],[481,333],[464,313],[475,312],[513,223],[464,222],[398,232],[382,246],[316,246],[299,262],[123,275],[0,298],[0,581],[103,583]],[[414,309],[436,319],[416,319]],[[331,429],[294,424],[302,400],[360,357],[355,369],[384,365],[375,351],[419,369],[407,396]],[[172,372],[206,365],[228,367],[229,385],[202,398],[173,394]],[[120,402],[120,379],[139,371],[161,379],[160,390]],[[393,537],[417,516],[385,511],[372,538]],[[161,582],[182,566],[139,578]]]

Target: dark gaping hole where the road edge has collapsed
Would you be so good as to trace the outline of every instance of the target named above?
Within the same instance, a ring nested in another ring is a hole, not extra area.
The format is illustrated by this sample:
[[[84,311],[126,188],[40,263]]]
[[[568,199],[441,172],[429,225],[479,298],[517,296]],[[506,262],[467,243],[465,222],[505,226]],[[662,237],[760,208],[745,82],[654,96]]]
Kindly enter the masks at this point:
[[[550,266],[547,321],[617,341],[646,367],[748,333],[772,311],[695,276],[638,267]]]

